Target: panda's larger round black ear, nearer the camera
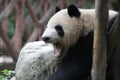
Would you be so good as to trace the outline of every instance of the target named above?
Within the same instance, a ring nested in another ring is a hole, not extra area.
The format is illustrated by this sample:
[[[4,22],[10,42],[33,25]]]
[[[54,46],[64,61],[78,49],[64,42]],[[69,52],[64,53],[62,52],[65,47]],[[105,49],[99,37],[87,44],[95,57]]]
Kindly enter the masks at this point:
[[[80,17],[81,13],[75,5],[68,6],[68,14],[70,17]]]

